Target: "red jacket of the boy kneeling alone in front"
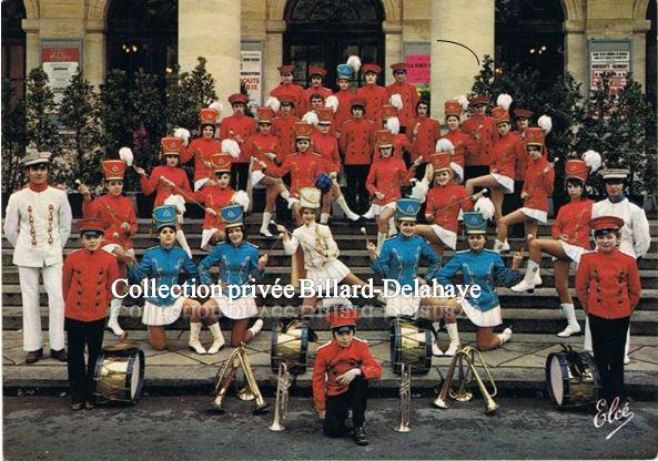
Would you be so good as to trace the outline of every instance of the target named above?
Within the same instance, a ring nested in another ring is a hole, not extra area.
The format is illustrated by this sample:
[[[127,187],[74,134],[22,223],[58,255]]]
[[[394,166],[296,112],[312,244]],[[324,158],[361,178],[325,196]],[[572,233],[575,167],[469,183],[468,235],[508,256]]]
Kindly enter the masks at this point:
[[[325,409],[326,397],[347,392],[350,386],[341,386],[336,378],[353,368],[361,369],[365,379],[379,379],[382,366],[373,358],[367,342],[354,338],[345,348],[336,340],[320,346],[315,350],[313,366],[313,401],[316,410]]]

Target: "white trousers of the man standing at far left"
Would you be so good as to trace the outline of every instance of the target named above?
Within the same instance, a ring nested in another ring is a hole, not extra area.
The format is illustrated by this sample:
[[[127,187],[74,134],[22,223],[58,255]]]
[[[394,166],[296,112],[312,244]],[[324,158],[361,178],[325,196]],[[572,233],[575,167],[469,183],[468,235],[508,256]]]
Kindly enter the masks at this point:
[[[62,296],[62,265],[45,267],[18,266],[23,300],[23,350],[33,351],[43,347],[41,311],[39,306],[39,273],[43,274],[43,287],[48,294],[50,348],[64,348],[64,298]]]

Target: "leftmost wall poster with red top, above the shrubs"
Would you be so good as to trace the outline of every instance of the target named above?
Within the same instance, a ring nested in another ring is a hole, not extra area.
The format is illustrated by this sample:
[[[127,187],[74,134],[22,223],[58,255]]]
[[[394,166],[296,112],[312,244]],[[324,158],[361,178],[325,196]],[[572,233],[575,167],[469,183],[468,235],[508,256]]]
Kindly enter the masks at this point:
[[[41,65],[48,74],[55,103],[60,103],[64,90],[81,65],[81,43],[78,40],[42,40]]]

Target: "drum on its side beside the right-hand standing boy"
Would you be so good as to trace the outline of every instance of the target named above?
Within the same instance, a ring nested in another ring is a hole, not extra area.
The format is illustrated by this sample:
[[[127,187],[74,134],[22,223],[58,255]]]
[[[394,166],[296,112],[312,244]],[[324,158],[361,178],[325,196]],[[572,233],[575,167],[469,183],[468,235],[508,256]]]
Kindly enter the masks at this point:
[[[546,388],[558,408],[595,404],[600,378],[594,357],[588,352],[576,352],[569,346],[560,352],[549,354],[546,358]]]

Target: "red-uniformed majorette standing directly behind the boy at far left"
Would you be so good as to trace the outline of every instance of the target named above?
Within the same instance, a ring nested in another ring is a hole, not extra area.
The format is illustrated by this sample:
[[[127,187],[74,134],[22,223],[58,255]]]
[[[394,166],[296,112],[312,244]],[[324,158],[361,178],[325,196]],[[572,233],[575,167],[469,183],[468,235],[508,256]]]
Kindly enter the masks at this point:
[[[101,219],[108,224],[103,249],[117,257],[120,278],[123,278],[126,274],[126,266],[136,264],[130,236],[138,232],[138,218],[133,201],[121,195],[125,163],[121,160],[107,160],[102,162],[102,167],[108,193],[101,197],[92,198],[89,188],[84,184],[80,184],[82,215],[88,218]],[[118,289],[120,294],[123,294],[126,287],[119,286]],[[126,334],[119,325],[120,310],[121,299],[112,299],[110,301],[108,328],[114,335],[125,338]]]

